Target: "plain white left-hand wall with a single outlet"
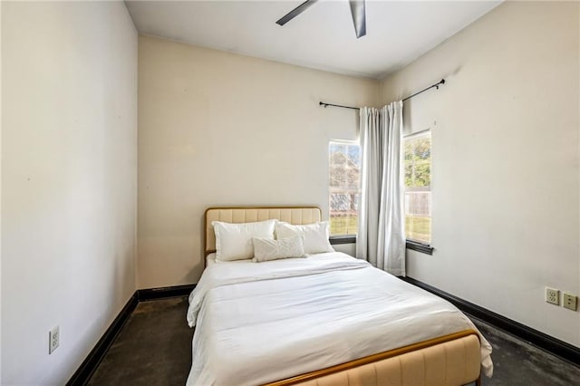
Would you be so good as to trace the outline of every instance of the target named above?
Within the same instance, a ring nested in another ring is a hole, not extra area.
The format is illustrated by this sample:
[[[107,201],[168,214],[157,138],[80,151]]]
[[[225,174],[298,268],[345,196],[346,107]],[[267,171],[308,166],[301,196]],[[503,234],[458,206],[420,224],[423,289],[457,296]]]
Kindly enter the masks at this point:
[[[3,2],[2,39],[1,383],[63,384],[136,289],[137,33],[122,2]]]

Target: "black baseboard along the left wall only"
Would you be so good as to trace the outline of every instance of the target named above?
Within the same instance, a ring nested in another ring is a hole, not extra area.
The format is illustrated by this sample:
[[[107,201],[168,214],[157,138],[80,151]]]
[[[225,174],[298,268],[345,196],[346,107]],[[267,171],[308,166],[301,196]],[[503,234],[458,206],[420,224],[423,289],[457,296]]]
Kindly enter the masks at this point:
[[[71,379],[66,382],[67,386],[84,385],[89,381],[92,373],[96,370],[99,363],[101,363],[109,347],[121,332],[122,326],[129,320],[131,313],[137,307],[139,300],[137,293],[133,294],[127,304],[122,308],[121,313],[117,315],[111,326],[102,334],[101,339],[94,346],[86,359],[81,363],[81,366],[74,372]]]

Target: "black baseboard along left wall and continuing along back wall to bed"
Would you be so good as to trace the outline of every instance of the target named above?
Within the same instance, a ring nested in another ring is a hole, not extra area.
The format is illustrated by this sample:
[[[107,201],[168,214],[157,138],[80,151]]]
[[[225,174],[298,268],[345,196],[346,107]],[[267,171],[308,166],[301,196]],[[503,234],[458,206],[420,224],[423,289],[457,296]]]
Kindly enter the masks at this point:
[[[102,358],[111,347],[111,344],[121,332],[121,328],[131,316],[132,312],[137,307],[140,302],[146,302],[149,300],[163,299],[168,297],[185,296],[189,294],[196,285],[176,285],[171,287],[162,288],[148,288],[137,290],[129,299],[129,302],[125,304],[121,313],[117,315],[115,320],[111,323],[111,326],[102,334],[101,339],[94,346],[86,359],[81,363],[81,366],[76,372],[74,372],[71,379],[66,382],[66,386],[81,386],[87,384],[91,379],[92,373],[97,370],[97,366],[101,363]],[[185,323],[185,319],[184,319]]]

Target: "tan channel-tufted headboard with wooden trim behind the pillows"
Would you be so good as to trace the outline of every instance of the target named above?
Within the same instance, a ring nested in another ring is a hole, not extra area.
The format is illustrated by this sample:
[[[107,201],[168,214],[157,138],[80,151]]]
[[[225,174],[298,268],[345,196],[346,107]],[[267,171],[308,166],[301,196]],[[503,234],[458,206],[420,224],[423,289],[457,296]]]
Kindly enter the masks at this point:
[[[253,223],[276,219],[293,225],[312,224],[322,220],[320,207],[209,207],[206,209],[205,251],[206,256],[216,252],[216,234],[212,221],[227,223]]]

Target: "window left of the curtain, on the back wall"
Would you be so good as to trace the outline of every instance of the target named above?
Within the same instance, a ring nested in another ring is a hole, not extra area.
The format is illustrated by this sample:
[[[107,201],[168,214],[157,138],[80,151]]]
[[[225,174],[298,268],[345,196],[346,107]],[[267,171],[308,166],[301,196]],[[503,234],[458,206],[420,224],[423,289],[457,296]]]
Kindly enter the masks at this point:
[[[358,142],[330,142],[330,234],[356,235],[361,171]]]

